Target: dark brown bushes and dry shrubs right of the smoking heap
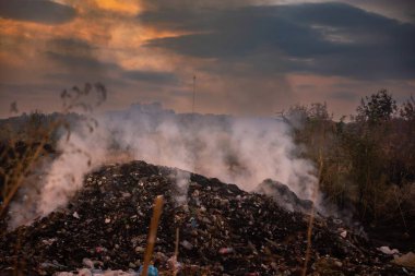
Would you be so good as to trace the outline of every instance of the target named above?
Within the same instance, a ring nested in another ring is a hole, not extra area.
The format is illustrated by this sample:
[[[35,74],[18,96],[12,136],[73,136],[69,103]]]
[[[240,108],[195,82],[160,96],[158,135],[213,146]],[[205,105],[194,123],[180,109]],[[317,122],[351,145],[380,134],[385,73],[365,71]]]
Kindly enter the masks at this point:
[[[327,105],[297,106],[296,142],[321,167],[320,189],[363,221],[414,231],[415,101],[401,107],[384,89],[361,99],[357,115],[333,121]]]

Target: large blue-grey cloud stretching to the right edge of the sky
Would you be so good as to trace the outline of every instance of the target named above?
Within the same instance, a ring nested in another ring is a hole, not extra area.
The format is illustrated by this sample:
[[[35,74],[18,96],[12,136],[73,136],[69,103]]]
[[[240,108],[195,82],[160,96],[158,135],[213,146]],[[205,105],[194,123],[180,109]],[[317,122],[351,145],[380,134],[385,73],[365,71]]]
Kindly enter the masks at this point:
[[[360,80],[415,77],[415,25],[348,4],[161,8],[140,20],[192,32],[150,40],[147,47],[217,59],[220,67],[245,63],[251,71],[260,68],[268,74],[300,72]]]

